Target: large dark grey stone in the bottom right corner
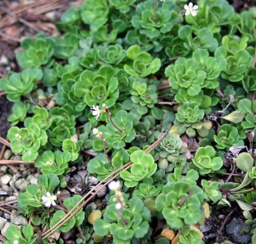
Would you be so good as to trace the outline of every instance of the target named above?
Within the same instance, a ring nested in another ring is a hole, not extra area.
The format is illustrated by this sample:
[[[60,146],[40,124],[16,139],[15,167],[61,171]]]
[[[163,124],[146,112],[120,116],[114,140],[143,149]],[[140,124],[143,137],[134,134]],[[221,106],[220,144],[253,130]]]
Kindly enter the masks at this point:
[[[241,244],[249,244],[251,241],[251,235],[240,235],[240,231],[245,228],[245,222],[243,220],[232,220],[226,225],[226,233],[232,239],[233,242]]]

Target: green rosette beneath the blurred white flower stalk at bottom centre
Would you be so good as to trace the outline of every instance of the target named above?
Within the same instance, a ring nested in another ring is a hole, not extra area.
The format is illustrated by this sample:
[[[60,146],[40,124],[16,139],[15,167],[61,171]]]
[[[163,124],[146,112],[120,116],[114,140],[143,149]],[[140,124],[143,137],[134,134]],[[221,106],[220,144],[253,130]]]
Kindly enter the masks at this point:
[[[113,236],[113,243],[130,244],[131,239],[143,238],[150,228],[148,221],[151,219],[150,210],[143,205],[138,197],[131,197],[127,202],[129,208],[123,208],[122,217],[127,221],[123,224],[115,203],[110,201],[104,213],[104,219],[98,219],[93,224],[96,234],[104,237],[108,233]]]

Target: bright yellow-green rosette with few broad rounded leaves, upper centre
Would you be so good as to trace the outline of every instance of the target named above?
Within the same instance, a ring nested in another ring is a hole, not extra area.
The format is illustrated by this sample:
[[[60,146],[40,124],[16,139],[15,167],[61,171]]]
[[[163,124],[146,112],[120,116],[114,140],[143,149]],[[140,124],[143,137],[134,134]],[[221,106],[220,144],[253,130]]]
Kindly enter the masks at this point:
[[[160,69],[160,59],[158,57],[153,59],[150,53],[141,51],[141,47],[137,45],[129,47],[126,55],[130,60],[123,66],[123,69],[130,76],[145,77]]]

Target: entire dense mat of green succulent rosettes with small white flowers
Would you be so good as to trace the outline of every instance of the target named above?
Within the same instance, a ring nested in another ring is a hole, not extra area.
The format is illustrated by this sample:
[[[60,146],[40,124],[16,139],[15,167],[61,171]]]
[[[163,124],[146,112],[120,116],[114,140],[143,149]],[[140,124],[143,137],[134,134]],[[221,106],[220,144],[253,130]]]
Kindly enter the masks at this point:
[[[226,0],[86,0],[59,37],[24,39],[0,90],[11,151],[40,176],[4,243],[243,243],[222,233],[235,210],[256,243],[255,19]]]

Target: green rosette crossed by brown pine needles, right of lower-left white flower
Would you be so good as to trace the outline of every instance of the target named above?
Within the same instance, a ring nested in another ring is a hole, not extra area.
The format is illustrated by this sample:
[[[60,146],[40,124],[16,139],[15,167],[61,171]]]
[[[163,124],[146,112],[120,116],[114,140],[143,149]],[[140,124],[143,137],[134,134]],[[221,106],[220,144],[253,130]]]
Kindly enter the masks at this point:
[[[63,201],[63,205],[65,208],[67,208],[68,211],[71,211],[71,209],[73,209],[73,207],[82,199],[82,196],[80,195],[75,195],[73,197],[68,197]],[[82,204],[82,202],[76,207],[79,208],[79,206]],[[55,225],[57,222],[59,222],[64,216],[66,215],[66,213],[63,210],[57,210],[51,219],[51,222],[49,224],[50,228],[52,228],[53,225]],[[68,232],[69,230],[71,230],[73,228],[73,226],[77,226],[79,227],[82,224],[82,221],[84,221],[85,218],[85,212],[82,211],[82,208],[80,210],[78,210],[75,215],[69,219],[68,221],[66,221],[60,228],[60,231],[63,232]]]

